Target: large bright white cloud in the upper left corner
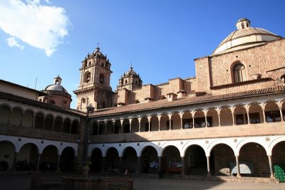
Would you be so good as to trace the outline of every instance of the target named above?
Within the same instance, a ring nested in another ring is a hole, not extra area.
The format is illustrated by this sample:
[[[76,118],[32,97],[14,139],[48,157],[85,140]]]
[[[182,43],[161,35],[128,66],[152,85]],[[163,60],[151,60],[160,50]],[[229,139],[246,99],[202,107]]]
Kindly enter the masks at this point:
[[[46,56],[51,56],[63,43],[63,38],[68,35],[68,23],[63,8],[43,5],[41,0],[1,0],[0,28],[31,46],[43,49]]]

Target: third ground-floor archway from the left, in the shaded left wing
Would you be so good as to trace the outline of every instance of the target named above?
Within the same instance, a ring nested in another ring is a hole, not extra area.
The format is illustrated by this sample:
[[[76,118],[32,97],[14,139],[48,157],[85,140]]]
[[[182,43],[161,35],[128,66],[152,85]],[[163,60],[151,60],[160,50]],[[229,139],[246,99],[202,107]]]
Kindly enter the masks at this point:
[[[49,145],[48,147],[43,149],[43,153],[41,154],[40,161],[40,170],[41,171],[55,171],[58,162],[58,149]]]

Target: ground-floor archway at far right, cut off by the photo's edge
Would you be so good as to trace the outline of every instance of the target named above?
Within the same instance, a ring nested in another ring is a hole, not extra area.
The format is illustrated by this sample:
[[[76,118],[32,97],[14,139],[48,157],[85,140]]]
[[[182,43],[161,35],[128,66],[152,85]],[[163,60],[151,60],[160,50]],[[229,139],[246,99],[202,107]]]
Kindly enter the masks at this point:
[[[285,142],[279,142],[272,149],[272,165],[276,179],[285,182]]]

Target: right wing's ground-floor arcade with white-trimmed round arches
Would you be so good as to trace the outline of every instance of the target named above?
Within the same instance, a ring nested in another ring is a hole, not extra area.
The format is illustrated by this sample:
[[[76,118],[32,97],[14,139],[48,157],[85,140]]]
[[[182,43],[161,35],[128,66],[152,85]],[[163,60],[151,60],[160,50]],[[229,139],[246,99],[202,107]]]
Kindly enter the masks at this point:
[[[89,156],[93,172],[274,177],[274,166],[285,165],[285,137],[90,144]]]

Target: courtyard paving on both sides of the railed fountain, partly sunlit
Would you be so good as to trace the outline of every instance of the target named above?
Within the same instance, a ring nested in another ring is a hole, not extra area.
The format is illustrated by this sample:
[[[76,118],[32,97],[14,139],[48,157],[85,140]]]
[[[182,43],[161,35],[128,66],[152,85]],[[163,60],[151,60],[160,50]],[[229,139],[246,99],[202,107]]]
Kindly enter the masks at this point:
[[[27,190],[31,184],[31,174],[0,175],[0,190]],[[244,182],[223,181],[198,181],[190,179],[159,179],[148,177],[135,177],[134,189],[136,190],[184,190],[184,189],[285,189],[285,184],[257,184]]]

